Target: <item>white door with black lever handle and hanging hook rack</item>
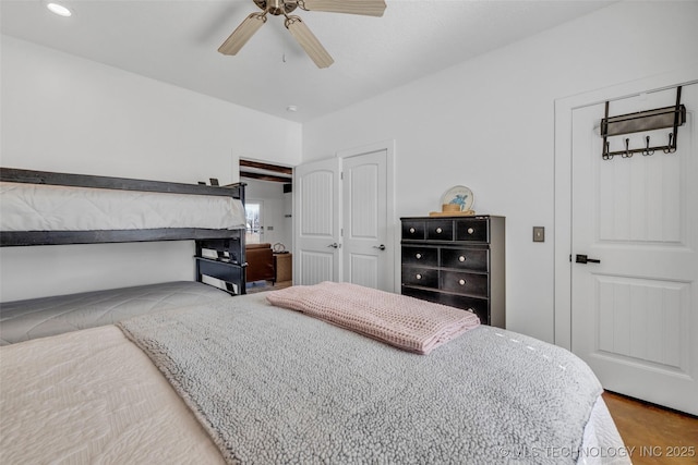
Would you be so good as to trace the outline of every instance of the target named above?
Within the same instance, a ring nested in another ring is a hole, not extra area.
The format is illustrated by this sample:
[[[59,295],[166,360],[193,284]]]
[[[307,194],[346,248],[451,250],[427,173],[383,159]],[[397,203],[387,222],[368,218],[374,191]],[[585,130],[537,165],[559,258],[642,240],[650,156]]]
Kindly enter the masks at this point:
[[[675,103],[667,89],[611,101],[611,115]],[[603,387],[698,414],[698,85],[683,87],[678,150],[602,160],[603,103],[573,112],[571,348]],[[611,150],[667,140],[616,136]],[[576,255],[600,262],[577,264]]]

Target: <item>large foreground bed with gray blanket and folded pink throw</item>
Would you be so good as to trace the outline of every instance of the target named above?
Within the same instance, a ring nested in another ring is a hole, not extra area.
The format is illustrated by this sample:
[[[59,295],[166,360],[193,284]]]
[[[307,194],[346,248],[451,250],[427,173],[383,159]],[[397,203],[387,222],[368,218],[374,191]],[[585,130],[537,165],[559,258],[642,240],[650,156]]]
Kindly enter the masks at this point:
[[[224,297],[0,347],[0,462],[629,462],[561,347],[353,284]]]

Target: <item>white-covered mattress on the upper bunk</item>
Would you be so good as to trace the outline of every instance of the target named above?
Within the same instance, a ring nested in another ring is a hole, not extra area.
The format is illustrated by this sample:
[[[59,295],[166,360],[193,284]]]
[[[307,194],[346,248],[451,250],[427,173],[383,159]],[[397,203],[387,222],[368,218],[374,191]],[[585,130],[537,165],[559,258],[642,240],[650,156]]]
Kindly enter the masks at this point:
[[[244,206],[227,196],[0,183],[0,231],[241,229]]]

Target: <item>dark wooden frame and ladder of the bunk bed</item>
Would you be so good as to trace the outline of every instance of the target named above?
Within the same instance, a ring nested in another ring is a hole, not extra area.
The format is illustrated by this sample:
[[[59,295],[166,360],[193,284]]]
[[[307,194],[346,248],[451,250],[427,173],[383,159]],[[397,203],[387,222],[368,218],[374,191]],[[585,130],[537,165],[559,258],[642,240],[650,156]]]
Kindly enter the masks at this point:
[[[239,199],[244,205],[244,183],[225,187],[201,184],[170,183],[129,178],[95,176],[48,171],[0,168],[0,181],[48,184],[72,187],[92,187],[169,194],[224,196]],[[245,230],[213,230],[197,228],[163,228],[142,230],[100,231],[2,231],[1,247],[65,244],[106,244],[125,242],[195,241],[196,281],[208,276],[225,283],[226,291],[245,293]],[[203,250],[216,252],[217,258],[204,257]]]

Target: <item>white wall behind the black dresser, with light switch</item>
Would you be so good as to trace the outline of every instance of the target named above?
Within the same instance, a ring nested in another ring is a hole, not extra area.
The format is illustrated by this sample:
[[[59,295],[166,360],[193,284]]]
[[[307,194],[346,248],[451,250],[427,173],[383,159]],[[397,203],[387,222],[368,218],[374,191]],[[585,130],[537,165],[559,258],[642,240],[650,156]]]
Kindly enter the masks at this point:
[[[697,21],[698,2],[613,4],[304,124],[303,161],[395,139],[398,217],[469,186],[507,217],[507,328],[552,342],[554,101],[695,64]]]

